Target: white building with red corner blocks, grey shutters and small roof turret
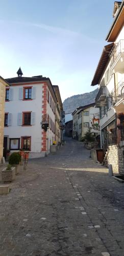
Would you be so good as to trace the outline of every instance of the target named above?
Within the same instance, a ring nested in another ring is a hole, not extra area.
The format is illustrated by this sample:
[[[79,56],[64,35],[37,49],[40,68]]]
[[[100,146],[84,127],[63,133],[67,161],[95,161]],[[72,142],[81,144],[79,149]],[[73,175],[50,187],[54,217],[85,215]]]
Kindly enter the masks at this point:
[[[42,76],[6,79],[5,132],[6,150],[20,148],[30,157],[45,156],[55,140],[56,96],[51,80]]]

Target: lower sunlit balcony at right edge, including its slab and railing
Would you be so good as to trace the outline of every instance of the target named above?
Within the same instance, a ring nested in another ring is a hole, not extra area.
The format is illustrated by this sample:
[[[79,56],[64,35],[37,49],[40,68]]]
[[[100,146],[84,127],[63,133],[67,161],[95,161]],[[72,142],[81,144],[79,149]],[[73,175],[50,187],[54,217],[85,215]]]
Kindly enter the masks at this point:
[[[124,112],[124,82],[121,81],[117,84],[116,90],[111,92],[112,108],[116,113]]]

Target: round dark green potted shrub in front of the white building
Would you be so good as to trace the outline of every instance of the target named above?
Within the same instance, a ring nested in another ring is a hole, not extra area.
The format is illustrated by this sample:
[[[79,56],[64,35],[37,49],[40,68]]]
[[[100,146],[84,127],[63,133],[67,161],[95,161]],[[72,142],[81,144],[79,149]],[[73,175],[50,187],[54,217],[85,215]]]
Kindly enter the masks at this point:
[[[15,174],[19,173],[20,161],[21,161],[21,156],[18,152],[14,152],[9,156],[9,164],[11,164],[12,166],[15,166]]]

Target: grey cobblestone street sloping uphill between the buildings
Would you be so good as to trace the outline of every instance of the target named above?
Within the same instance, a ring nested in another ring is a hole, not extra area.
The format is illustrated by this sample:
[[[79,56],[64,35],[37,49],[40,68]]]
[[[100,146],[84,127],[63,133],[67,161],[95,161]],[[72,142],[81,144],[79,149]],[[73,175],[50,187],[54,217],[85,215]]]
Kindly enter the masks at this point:
[[[124,185],[81,142],[30,160],[0,197],[0,256],[124,255]]]

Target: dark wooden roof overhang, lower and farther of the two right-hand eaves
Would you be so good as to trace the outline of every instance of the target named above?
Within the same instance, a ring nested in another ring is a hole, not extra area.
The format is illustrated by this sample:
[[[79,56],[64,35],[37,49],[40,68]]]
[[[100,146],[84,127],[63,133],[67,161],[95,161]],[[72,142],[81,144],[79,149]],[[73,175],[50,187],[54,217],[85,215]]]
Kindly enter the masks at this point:
[[[91,82],[91,86],[96,86],[96,84],[98,84],[98,82],[100,81],[103,71],[109,60],[109,53],[113,46],[114,46],[114,43],[112,42],[111,44],[104,47],[101,58],[98,62],[98,66],[96,68],[93,80]]]

